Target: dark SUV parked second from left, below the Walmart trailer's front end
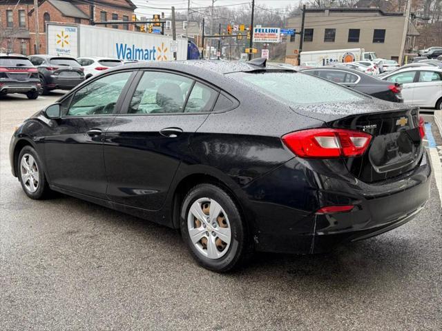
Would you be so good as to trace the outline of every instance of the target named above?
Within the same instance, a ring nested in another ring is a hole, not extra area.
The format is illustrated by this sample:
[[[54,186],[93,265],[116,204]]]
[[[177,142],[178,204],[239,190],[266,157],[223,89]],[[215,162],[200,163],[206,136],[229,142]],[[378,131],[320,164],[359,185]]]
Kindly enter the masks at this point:
[[[51,90],[71,90],[84,81],[84,68],[72,57],[37,54],[29,57],[39,70],[41,94]]]

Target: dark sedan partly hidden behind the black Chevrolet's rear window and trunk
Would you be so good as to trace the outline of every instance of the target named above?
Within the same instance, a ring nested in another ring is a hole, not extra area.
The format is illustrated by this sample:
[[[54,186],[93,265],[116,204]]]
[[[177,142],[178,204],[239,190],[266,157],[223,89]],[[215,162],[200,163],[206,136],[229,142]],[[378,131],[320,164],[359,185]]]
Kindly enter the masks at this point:
[[[348,68],[310,68],[302,70],[305,74],[321,77],[334,83],[347,86],[372,97],[392,102],[403,102],[401,85],[382,81],[358,70]]]

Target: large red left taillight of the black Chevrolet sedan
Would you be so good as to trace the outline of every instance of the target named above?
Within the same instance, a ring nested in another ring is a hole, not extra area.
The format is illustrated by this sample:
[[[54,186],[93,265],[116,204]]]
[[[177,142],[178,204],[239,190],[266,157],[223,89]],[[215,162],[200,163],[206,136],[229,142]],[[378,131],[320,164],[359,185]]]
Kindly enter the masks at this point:
[[[358,157],[372,140],[365,132],[345,129],[309,129],[285,134],[285,145],[298,157],[329,159]]]

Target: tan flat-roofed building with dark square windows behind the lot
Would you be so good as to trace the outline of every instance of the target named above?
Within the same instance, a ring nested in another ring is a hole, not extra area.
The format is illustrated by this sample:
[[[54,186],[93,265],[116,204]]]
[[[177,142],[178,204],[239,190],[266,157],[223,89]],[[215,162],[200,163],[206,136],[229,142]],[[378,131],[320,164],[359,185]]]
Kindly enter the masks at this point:
[[[301,30],[301,16],[291,17],[287,28]],[[302,51],[364,48],[383,59],[398,60],[405,28],[402,12],[379,8],[307,8]],[[419,35],[410,23],[407,38]],[[300,34],[287,40],[286,62],[298,63]]]

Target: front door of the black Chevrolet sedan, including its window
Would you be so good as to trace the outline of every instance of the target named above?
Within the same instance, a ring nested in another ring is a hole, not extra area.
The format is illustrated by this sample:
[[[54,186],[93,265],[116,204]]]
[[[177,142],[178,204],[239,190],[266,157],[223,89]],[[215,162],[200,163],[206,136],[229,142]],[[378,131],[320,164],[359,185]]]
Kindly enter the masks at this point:
[[[122,104],[132,72],[109,74],[77,90],[61,103],[63,116],[52,120],[45,137],[50,183],[59,188],[106,197],[104,134]]]

